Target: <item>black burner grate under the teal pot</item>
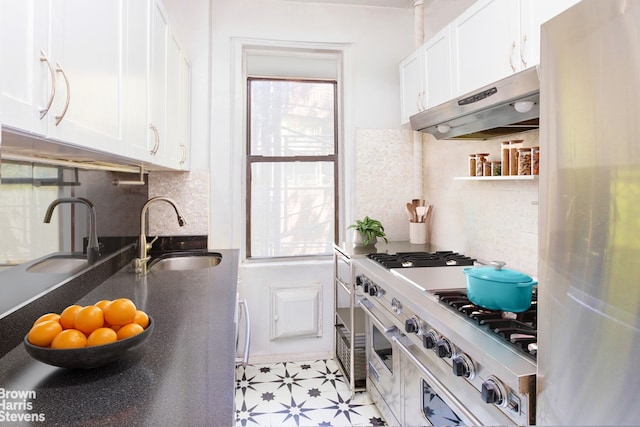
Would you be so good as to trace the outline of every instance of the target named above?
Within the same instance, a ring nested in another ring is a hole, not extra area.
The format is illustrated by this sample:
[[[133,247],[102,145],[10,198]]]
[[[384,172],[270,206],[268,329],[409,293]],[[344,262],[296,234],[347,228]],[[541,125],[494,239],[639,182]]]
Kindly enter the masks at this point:
[[[435,291],[438,299],[461,315],[473,320],[522,353],[536,358],[537,353],[537,298],[533,294],[531,307],[522,313],[487,310],[473,304],[467,298],[465,289]]]

